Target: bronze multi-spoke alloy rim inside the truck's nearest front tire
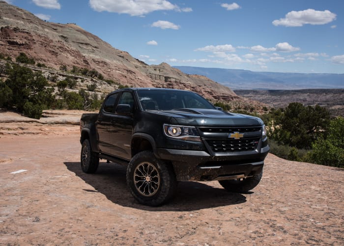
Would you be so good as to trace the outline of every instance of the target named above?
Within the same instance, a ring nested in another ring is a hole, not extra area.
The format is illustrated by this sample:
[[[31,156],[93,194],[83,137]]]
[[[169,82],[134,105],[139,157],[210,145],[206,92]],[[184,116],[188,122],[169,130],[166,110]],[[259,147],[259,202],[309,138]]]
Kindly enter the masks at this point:
[[[143,196],[153,196],[160,187],[158,170],[149,162],[140,163],[134,171],[134,184]]]

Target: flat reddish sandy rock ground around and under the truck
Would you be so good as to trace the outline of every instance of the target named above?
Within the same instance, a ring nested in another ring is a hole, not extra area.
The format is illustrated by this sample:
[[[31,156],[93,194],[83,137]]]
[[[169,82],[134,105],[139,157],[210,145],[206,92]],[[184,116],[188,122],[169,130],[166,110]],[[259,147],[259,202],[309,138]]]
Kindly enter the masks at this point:
[[[0,245],[344,245],[344,169],[269,154],[252,192],[181,182],[146,207],[125,167],[81,171],[80,113],[0,113]]]

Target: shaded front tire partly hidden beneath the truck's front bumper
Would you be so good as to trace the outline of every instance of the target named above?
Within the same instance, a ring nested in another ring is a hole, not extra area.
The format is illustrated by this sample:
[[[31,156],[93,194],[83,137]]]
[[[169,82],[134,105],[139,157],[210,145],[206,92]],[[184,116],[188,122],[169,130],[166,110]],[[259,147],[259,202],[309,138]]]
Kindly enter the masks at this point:
[[[222,185],[222,187],[230,192],[244,193],[256,187],[259,184],[262,175],[263,171],[261,171],[260,174],[254,175],[249,178],[237,180],[221,180],[219,181],[219,183]]]

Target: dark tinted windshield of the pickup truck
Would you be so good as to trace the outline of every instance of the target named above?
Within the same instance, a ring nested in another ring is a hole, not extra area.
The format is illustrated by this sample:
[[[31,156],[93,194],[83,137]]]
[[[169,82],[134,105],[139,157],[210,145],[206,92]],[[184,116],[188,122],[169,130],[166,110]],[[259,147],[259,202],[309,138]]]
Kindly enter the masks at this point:
[[[199,94],[173,90],[138,90],[143,110],[172,110],[180,108],[215,109]]]

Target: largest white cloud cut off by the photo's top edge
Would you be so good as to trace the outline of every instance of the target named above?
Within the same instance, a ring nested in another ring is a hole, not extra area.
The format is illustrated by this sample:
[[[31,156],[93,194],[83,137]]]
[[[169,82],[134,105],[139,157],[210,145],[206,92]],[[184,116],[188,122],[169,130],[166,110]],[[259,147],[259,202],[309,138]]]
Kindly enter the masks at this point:
[[[114,12],[142,16],[157,10],[179,10],[177,5],[167,0],[89,0],[89,5],[95,11]]]

